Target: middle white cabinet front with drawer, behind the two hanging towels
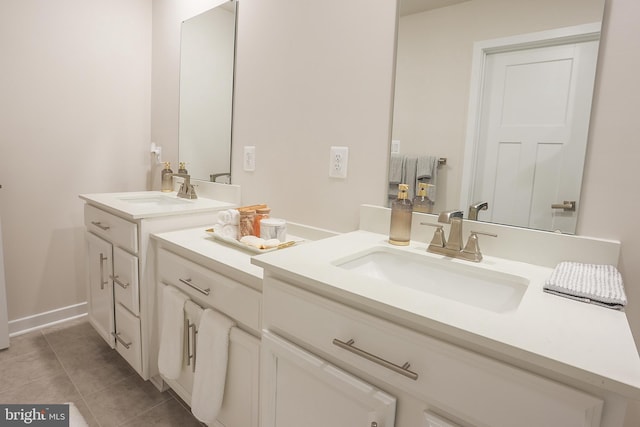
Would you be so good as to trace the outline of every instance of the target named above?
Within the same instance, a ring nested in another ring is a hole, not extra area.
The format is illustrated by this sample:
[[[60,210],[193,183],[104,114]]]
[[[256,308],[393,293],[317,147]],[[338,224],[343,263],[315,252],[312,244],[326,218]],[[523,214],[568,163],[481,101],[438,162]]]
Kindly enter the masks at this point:
[[[223,249],[224,250],[224,249]],[[233,249],[232,249],[233,250]],[[206,266],[178,255],[166,248],[158,248],[157,295],[162,298],[162,287],[174,286],[202,309],[212,308],[233,319],[236,326],[229,334],[229,354],[222,407],[217,426],[258,427],[259,425],[259,368],[260,325],[262,296],[259,291],[237,280],[222,275]],[[162,307],[159,302],[158,307]],[[159,310],[158,319],[162,319]],[[189,405],[199,333],[194,322],[185,313],[185,357],[180,377],[164,381]],[[189,328],[192,325],[192,328]]]

